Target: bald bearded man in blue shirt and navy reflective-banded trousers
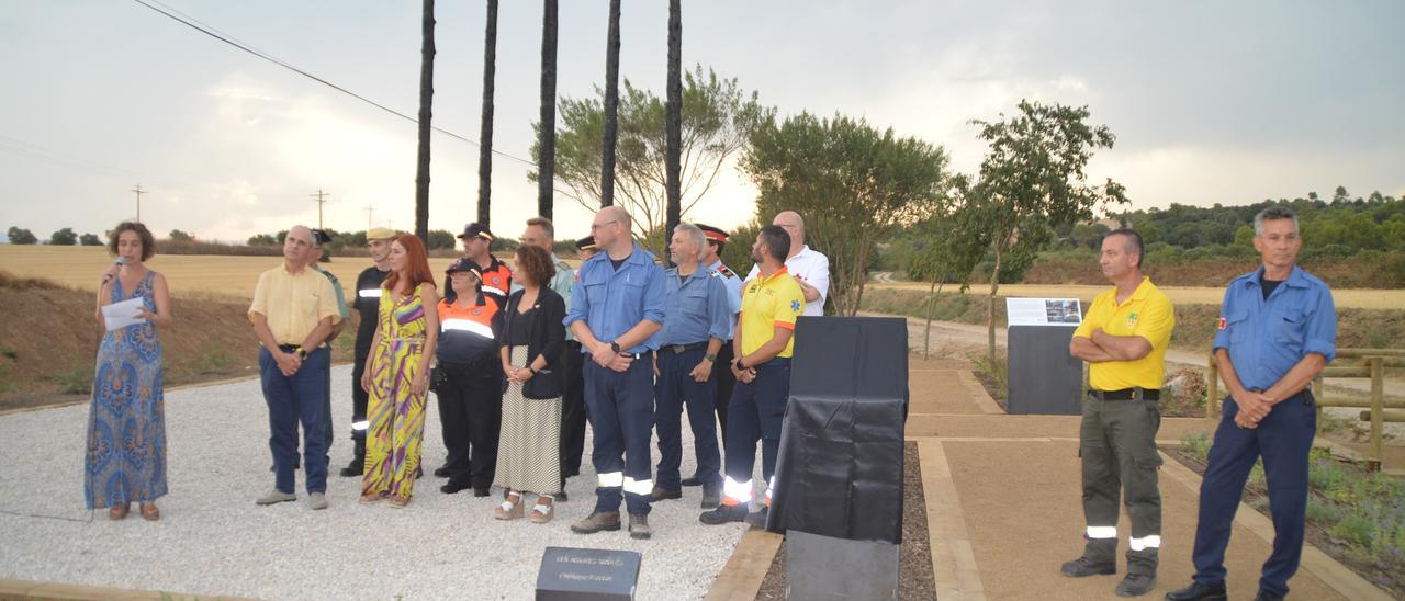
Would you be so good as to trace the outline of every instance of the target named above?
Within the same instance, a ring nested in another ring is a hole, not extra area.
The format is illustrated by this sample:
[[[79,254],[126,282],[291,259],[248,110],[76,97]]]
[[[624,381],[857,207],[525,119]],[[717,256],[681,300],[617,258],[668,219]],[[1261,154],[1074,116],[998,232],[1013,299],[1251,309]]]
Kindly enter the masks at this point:
[[[620,529],[628,504],[629,536],[648,539],[653,477],[655,334],[663,326],[663,268],[634,243],[618,206],[596,213],[590,233],[600,253],[580,264],[562,323],[586,355],[586,411],[594,431],[596,508],[570,525],[577,534]],[[622,455],[622,456],[621,456]]]

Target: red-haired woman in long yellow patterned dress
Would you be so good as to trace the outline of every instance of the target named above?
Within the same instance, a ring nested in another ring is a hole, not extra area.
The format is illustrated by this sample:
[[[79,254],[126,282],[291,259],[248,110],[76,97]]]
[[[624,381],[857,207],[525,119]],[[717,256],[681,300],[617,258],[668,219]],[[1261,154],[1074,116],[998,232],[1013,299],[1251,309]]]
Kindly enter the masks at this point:
[[[375,338],[361,388],[370,395],[361,503],[410,503],[424,438],[430,358],[438,343],[438,292],[424,243],[402,235],[391,243]],[[429,308],[429,310],[426,310]]]

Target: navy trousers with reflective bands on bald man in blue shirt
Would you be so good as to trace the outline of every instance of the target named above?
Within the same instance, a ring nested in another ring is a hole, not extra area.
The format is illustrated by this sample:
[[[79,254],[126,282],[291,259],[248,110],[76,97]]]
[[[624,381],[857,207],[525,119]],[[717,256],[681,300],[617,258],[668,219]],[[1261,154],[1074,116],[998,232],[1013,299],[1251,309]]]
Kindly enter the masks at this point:
[[[586,357],[586,410],[594,427],[590,462],[599,477],[596,511],[648,515],[653,482],[649,441],[653,438],[653,361],[642,355],[617,372]],[[621,458],[621,455],[624,455]],[[621,482],[622,480],[622,482]]]

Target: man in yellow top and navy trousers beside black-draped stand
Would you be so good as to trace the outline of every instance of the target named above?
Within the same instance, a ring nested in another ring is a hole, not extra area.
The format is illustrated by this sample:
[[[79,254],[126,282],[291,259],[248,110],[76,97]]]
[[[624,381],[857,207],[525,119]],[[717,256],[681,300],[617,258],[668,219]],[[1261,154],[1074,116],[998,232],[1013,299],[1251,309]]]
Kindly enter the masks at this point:
[[[746,520],[766,524],[776,473],[776,454],[781,442],[781,420],[790,397],[790,359],[795,347],[795,319],[805,313],[805,292],[785,270],[790,233],[780,226],[766,226],[756,235],[752,261],[760,274],[742,291],[742,313],[732,336],[732,375],[736,388],[726,407],[726,479],[722,504],[704,513],[702,524],[726,524]],[[756,468],[756,441],[762,440],[762,477],[766,479],[766,503],[747,515],[752,501],[752,470]]]

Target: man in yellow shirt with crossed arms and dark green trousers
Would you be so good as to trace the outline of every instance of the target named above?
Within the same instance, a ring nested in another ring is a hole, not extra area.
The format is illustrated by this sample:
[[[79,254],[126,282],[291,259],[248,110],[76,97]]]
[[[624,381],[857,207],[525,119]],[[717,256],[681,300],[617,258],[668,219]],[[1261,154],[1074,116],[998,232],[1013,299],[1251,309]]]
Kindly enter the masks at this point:
[[[1117,229],[1103,237],[1103,275],[1113,289],[1097,295],[1073,331],[1069,354],[1089,362],[1087,397],[1079,434],[1083,462],[1083,555],[1062,566],[1069,577],[1117,573],[1118,497],[1131,515],[1127,577],[1120,597],[1156,586],[1161,548],[1161,490],[1156,430],[1166,347],[1176,326],[1170,299],[1142,275],[1142,240]]]

